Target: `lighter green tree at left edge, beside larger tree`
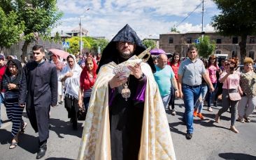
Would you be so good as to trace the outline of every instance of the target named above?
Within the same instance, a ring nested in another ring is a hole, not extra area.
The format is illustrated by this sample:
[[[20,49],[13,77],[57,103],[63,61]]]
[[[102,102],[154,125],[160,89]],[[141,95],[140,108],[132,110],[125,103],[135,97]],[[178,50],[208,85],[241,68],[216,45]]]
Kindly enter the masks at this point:
[[[17,23],[17,14],[11,11],[6,15],[0,7],[0,53],[3,47],[9,48],[18,42],[23,31],[24,22]]]

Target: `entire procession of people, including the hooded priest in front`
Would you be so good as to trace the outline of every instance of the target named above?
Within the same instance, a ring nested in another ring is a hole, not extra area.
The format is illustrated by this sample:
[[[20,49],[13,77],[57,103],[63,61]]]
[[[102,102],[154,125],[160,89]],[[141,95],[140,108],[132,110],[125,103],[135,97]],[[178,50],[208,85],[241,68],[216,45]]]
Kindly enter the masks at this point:
[[[50,106],[63,103],[74,130],[78,129],[78,112],[85,110],[78,159],[176,159],[166,111],[176,115],[177,98],[183,98],[185,105],[187,139],[194,132],[194,117],[204,120],[204,104],[206,111],[213,112],[218,99],[222,99],[222,108],[215,114],[215,122],[220,122],[222,113],[228,110],[231,131],[239,133],[236,121],[250,122],[256,106],[252,58],[241,60],[244,69],[240,72],[238,58],[222,60],[220,64],[215,56],[200,59],[193,45],[184,61],[177,52],[171,59],[159,54],[138,61],[145,49],[127,24],[108,43],[102,57],[95,58],[87,52],[70,54],[62,61],[52,54],[46,61],[43,46],[35,45],[33,61],[22,67],[16,58],[6,59],[1,54],[0,100],[12,122],[9,148],[17,146],[19,134],[27,126],[22,120],[25,109],[31,126],[38,132],[36,159],[44,157]],[[134,59],[136,63],[132,63]],[[120,66],[122,70],[114,73]]]

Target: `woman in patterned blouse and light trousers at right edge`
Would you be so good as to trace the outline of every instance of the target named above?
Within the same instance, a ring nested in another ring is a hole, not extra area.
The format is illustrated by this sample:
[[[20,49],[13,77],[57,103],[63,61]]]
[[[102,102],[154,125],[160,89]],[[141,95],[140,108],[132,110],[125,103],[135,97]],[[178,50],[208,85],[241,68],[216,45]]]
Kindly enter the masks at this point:
[[[240,86],[243,90],[243,97],[239,102],[239,122],[250,122],[249,115],[253,113],[256,106],[256,73],[253,72],[253,59],[245,58],[243,61],[244,72],[241,74]]]

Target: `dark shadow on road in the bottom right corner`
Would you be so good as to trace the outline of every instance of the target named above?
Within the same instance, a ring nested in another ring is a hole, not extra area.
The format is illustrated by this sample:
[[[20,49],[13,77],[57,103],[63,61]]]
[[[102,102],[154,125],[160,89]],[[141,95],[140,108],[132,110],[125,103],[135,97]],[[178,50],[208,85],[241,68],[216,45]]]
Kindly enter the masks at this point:
[[[243,154],[243,153],[220,153],[220,157],[223,159],[234,159],[234,160],[255,160],[256,157],[250,154]]]

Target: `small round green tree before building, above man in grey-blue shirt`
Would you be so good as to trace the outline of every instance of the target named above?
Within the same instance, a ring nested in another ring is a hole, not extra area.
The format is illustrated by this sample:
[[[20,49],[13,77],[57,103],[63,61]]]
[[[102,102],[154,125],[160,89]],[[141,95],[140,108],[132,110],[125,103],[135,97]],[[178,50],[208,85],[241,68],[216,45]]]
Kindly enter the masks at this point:
[[[199,38],[199,43],[194,45],[198,49],[199,56],[203,58],[208,58],[208,56],[213,54],[216,47],[215,42],[211,41],[208,35],[205,35],[204,38]]]

